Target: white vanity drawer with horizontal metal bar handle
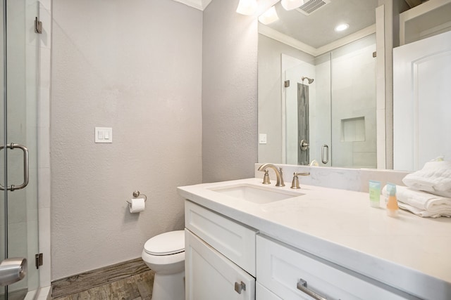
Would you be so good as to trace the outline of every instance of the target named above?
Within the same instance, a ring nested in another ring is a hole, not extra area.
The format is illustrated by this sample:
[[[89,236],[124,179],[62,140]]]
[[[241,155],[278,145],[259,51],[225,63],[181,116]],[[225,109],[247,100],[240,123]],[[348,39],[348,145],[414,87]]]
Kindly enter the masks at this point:
[[[415,299],[380,282],[359,277],[357,273],[260,235],[257,236],[257,266],[257,280],[282,299],[315,299],[297,288],[299,280],[304,280],[308,289],[329,300]]]

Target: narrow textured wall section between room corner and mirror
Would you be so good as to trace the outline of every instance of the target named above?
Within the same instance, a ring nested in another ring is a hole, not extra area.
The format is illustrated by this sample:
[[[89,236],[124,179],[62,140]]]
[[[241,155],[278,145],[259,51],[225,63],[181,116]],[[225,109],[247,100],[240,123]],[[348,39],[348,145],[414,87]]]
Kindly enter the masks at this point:
[[[204,182],[253,177],[257,162],[257,18],[237,4],[213,0],[204,11]]]

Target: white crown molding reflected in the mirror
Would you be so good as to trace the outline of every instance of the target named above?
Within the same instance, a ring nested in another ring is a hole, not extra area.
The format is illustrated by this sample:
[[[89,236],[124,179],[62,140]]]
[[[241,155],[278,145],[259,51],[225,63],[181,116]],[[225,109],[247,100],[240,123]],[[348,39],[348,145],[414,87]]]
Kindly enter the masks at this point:
[[[354,32],[353,34],[347,35],[342,39],[333,41],[330,44],[321,46],[319,48],[314,48],[312,46],[302,43],[302,41],[298,41],[297,39],[288,37],[288,35],[286,34],[280,33],[277,30],[273,30],[271,27],[259,23],[259,34],[263,34],[266,37],[275,39],[276,41],[280,41],[280,43],[292,46],[297,50],[304,51],[305,53],[308,53],[311,56],[320,56],[321,54],[331,51],[335,48],[345,46],[346,44],[349,44],[352,41],[362,39],[362,37],[366,37],[370,34],[373,34],[374,32],[376,32],[376,24],[366,27],[363,30],[359,30],[358,32]]]

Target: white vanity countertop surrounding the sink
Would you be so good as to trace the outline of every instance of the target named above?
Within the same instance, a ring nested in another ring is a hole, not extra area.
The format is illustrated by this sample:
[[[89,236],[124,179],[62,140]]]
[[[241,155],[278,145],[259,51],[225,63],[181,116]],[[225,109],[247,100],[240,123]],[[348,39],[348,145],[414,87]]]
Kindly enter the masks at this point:
[[[369,206],[368,193],[301,185],[299,193],[254,204],[208,190],[261,178],[178,188],[197,204],[357,273],[424,299],[451,299],[451,219],[428,219],[400,210],[398,218]],[[382,203],[383,201],[381,201]]]

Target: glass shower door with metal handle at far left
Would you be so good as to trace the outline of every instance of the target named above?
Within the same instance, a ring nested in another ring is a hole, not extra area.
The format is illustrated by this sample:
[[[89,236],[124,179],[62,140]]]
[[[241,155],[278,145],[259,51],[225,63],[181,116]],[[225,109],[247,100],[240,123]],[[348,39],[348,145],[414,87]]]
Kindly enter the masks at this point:
[[[0,287],[0,299],[24,299],[37,289],[35,266],[37,240],[37,55],[39,39],[35,34],[35,0],[1,1],[0,63],[0,261],[27,259],[23,280]],[[28,183],[25,182],[25,150],[28,149]],[[9,190],[8,190],[9,187]]]

